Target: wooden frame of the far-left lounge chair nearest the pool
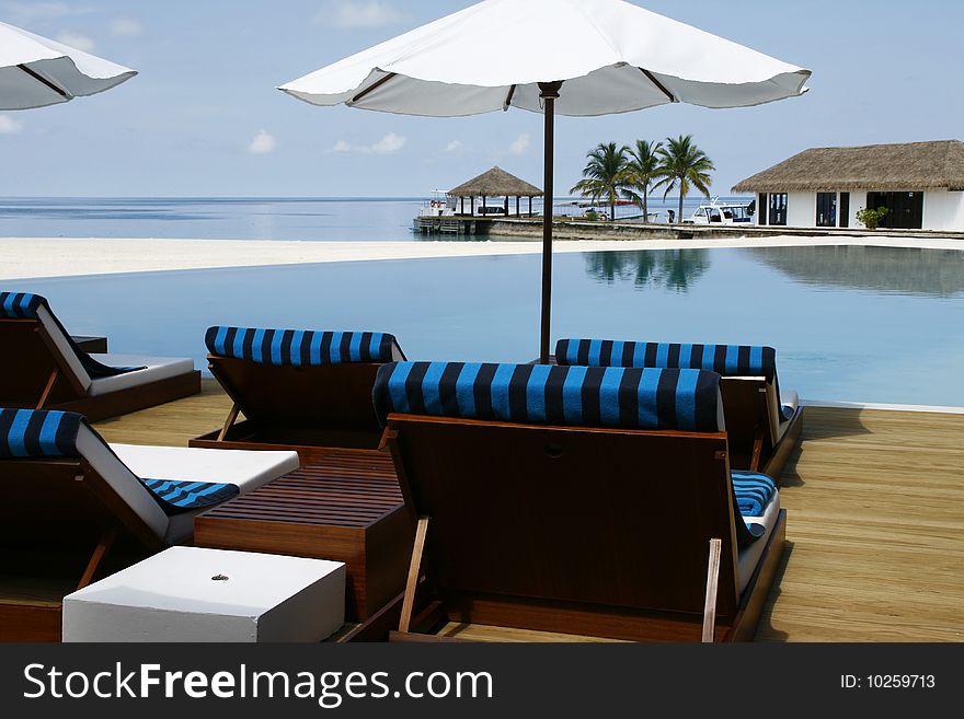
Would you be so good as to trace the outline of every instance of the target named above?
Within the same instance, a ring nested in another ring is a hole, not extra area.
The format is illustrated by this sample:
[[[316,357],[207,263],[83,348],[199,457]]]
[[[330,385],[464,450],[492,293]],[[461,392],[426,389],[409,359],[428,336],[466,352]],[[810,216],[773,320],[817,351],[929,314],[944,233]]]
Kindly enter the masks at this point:
[[[200,392],[194,370],[100,395],[90,395],[70,370],[49,332],[33,318],[0,318],[5,351],[0,372],[15,382],[4,385],[0,404],[30,409],[59,409],[85,415],[91,421],[129,414]]]

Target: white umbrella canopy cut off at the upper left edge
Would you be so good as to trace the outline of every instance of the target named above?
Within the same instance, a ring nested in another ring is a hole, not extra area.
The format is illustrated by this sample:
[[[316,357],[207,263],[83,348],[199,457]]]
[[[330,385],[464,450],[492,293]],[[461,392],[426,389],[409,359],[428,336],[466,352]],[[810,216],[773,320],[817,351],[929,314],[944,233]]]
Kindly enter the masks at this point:
[[[110,90],[136,71],[0,22],[0,109],[66,103]]]

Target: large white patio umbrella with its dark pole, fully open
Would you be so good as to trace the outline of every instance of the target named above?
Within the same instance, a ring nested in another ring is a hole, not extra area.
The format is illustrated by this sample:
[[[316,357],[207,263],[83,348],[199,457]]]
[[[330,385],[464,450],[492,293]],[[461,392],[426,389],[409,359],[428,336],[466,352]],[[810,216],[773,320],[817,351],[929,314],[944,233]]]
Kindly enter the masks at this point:
[[[456,117],[544,114],[540,361],[549,358],[555,113],[667,103],[745,107],[806,92],[811,72],[622,0],[485,0],[282,85],[314,105]]]

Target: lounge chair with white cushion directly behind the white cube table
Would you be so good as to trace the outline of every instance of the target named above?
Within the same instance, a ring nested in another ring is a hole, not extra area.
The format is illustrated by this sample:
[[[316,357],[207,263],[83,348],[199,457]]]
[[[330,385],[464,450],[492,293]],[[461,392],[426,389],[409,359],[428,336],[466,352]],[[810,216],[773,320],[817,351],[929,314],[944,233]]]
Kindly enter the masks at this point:
[[[107,444],[78,414],[0,409],[0,639],[58,640],[66,594],[297,467],[295,452]]]

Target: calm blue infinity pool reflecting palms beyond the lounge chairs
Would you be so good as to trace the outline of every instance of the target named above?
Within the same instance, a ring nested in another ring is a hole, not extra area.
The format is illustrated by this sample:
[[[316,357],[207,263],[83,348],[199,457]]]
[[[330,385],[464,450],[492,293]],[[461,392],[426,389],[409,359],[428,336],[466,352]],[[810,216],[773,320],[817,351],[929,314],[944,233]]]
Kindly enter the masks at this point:
[[[538,355],[540,258],[19,280],[114,351],[192,356],[211,324],[391,332],[410,359]],[[810,401],[964,406],[964,252],[788,247],[555,258],[553,338],[777,348]]]

